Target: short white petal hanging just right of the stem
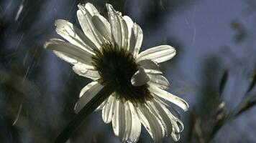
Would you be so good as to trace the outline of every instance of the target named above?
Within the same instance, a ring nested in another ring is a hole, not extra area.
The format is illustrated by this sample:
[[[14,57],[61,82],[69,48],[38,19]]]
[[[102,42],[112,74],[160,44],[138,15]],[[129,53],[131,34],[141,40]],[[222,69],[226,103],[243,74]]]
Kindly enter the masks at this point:
[[[114,108],[116,106],[116,98],[112,95],[107,99],[105,107],[102,109],[102,119],[106,124],[109,124],[114,114]]]

